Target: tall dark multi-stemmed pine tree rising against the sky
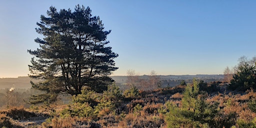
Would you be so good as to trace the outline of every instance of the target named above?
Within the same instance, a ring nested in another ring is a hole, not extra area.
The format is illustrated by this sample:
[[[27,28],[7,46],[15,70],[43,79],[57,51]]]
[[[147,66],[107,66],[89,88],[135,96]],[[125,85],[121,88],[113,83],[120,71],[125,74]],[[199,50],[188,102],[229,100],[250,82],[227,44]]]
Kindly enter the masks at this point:
[[[34,55],[29,76],[40,79],[31,82],[33,88],[71,95],[81,93],[83,86],[97,92],[107,89],[118,54],[106,46],[110,30],[104,30],[99,16],[92,16],[89,7],[79,4],[74,11],[50,6],[47,17],[41,15],[36,24],[35,30],[43,38],[35,39],[40,48],[28,50]]]

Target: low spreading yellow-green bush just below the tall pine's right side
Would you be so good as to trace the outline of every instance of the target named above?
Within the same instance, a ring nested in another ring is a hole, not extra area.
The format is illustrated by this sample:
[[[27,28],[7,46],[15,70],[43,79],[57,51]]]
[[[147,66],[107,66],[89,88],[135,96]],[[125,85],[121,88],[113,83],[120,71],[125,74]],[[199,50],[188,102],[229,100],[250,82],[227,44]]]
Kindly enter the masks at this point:
[[[111,99],[116,98],[114,95],[120,96],[115,85],[104,91],[103,95],[84,89],[81,94],[73,96],[72,103],[60,112],[60,116],[68,117],[71,115],[72,117],[86,117],[96,120],[114,110],[115,107],[111,101]]]

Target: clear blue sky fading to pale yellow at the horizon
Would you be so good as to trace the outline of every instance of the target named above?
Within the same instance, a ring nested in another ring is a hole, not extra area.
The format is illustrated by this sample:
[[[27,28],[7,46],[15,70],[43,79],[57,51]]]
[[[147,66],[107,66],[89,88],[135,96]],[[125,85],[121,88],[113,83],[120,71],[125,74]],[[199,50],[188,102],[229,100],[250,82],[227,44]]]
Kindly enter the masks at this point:
[[[40,15],[76,4],[112,30],[112,75],[222,74],[256,55],[255,0],[0,0],[0,77],[27,76]]]

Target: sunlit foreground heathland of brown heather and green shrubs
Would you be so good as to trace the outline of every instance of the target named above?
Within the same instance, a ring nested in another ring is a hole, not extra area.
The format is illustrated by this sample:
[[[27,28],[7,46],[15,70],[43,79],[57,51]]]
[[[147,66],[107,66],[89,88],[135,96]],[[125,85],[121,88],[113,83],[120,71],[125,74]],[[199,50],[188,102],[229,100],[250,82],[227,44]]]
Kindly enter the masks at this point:
[[[122,92],[113,84],[103,93],[84,89],[68,103],[30,106],[8,99],[0,127],[255,127],[255,91],[231,91],[226,85],[197,80]]]

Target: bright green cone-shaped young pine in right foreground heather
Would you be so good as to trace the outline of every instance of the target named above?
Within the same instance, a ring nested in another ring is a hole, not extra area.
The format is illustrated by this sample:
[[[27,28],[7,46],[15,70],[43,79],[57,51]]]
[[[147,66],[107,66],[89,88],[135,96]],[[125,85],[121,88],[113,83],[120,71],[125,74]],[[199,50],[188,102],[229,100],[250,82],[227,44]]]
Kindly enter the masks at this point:
[[[193,85],[187,85],[181,99],[182,107],[166,102],[168,112],[165,121],[168,127],[209,127],[215,124],[218,103],[206,102],[207,93],[199,91],[197,80]]]

